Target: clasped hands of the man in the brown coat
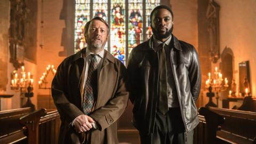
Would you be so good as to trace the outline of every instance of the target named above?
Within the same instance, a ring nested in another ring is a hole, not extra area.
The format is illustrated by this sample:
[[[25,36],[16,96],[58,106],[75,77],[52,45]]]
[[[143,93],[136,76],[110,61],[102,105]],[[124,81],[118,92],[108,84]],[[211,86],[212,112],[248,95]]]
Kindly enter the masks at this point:
[[[78,133],[86,132],[92,129],[92,123],[95,123],[90,116],[79,115],[74,120],[73,126]]]

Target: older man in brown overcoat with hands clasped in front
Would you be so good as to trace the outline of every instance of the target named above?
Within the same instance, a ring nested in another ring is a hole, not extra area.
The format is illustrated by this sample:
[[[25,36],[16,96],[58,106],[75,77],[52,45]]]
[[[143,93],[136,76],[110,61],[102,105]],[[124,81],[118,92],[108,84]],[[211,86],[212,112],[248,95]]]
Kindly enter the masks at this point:
[[[117,119],[129,93],[126,68],[104,50],[109,26],[95,17],[86,23],[87,47],[62,61],[52,82],[61,117],[59,143],[118,143]]]

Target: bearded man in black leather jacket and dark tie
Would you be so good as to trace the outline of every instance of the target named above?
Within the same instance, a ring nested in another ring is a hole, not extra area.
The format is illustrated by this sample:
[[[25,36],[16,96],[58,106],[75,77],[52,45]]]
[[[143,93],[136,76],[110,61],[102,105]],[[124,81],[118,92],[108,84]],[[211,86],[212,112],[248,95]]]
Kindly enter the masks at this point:
[[[169,7],[155,7],[150,20],[154,35],[134,47],[127,66],[133,124],[141,143],[193,143],[201,89],[197,52],[172,35]]]

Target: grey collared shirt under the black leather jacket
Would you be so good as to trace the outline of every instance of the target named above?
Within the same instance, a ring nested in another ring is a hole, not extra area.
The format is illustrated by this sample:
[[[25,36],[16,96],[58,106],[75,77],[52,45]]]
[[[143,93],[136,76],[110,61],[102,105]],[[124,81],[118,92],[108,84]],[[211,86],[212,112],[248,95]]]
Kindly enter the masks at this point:
[[[175,108],[175,107],[180,107],[179,106],[179,101],[178,101],[178,96],[177,96],[177,90],[174,82],[174,77],[172,73],[172,66],[171,66],[171,39],[172,36],[170,36],[165,42],[165,52],[166,52],[166,78],[167,78],[167,97],[168,97],[168,107],[169,108]],[[158,39],[153,36],[153,47],[156,50],[157,47],[162,44],[163,42],[159,41]],[[161,70],[161,69],[160,69]],[[161,105],[161,104],[159,104]]]

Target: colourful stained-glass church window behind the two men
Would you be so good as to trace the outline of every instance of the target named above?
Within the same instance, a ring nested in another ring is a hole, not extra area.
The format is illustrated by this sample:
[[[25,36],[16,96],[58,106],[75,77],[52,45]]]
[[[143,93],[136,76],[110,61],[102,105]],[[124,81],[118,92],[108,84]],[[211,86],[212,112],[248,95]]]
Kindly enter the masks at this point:
[[[160,0],[76,0],[74,52],[86,46],[85,23],[98,16],[110,26],[105,49],[126,64],[133,47],[152,35],[150,12],[159,4]]]

